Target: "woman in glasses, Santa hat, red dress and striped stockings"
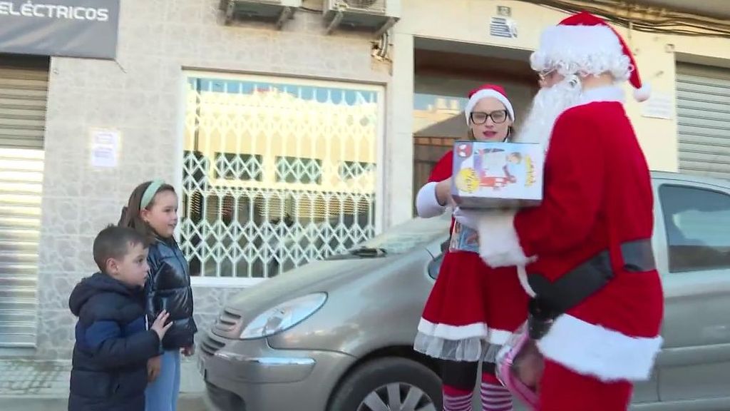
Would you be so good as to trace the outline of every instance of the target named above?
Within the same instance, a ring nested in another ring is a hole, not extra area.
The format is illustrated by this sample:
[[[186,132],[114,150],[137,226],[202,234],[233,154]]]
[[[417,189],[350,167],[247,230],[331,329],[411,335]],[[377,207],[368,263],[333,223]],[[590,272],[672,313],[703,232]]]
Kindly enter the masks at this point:
[[[470,138],[510,137],[515,113],[502,87],[485,85],[470,92],[465,113]],[[439,160],[430,182],[418,192],[419,216],[438,216],[453,205],[452,156],[449,151]],[[509,411],[512,396],[496,379],[494,360],[499,347],[526,320],[528,296],[514,267],[495,269],[483,263],[474,239],[478,241],[476,230],[452,218],[450,246],[423,309],[414,347],[441,362],[444,411],[472,409],[480,361],[482,410]]]

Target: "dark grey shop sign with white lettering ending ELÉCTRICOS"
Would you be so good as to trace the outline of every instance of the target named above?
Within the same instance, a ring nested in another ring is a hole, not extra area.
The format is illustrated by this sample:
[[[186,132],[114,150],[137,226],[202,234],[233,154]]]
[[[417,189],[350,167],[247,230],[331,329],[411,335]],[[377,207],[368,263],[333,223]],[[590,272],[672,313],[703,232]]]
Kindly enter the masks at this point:
[[[0,53],[114,59],[120,0],[0,0]]]

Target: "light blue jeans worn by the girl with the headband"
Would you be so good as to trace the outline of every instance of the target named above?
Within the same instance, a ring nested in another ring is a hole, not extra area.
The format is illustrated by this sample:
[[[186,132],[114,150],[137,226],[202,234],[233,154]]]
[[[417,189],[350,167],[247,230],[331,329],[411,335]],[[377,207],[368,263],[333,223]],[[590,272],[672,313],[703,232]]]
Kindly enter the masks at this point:
[[[176,411],[180,393],[180,350],[165,351],[157,380],[145,391],[145,411]]]

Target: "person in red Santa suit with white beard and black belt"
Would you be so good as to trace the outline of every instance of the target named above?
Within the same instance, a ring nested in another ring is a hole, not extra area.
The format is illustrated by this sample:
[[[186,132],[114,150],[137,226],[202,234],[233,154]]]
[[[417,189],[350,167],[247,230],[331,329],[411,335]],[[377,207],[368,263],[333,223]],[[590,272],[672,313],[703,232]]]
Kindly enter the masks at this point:
[[[526,265],[531,318],[550,313],[535,337],[545,357],[538,409],[626,410],[631,382],[650,377],[664,314],[650,173],[618,83],[629,80],[639,100],[648,90],[623,39],[585,12],[546,29],[531,64],[564,79],[540,91],[518,136],[545,143],[544,200],[480,214],[480,254],[491,267]],[[613,85],[591,83],[607,73]]]

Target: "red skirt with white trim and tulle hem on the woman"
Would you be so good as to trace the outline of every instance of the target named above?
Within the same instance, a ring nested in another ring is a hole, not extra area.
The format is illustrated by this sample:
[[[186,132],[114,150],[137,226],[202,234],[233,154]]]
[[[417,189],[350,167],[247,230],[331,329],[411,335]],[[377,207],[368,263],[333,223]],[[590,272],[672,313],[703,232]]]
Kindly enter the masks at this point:
[[[414,348],[451,361],[493,361],[527,318],[517,268],[491,268],[474,252],[447,252]]]

